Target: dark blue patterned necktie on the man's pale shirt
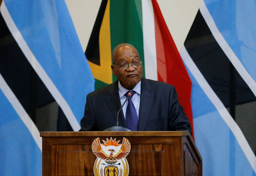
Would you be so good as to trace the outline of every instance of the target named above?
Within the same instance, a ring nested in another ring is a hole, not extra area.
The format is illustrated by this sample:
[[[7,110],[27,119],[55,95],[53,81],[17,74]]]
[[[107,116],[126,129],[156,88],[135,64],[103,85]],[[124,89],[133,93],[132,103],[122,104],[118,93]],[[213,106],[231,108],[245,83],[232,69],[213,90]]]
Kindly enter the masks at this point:
[[[132,95],[128,95],[129,92],[132,92]],[[135,92],[134,91],[128,91],[125,93],[125,96],[130,96],[128,98],[128,105],[126,108],[126,113],[125,113],[125,121],[127,128],[130,129],[131,131],[138,131],[138,116],[136,109],[132,103],[132,96]]]

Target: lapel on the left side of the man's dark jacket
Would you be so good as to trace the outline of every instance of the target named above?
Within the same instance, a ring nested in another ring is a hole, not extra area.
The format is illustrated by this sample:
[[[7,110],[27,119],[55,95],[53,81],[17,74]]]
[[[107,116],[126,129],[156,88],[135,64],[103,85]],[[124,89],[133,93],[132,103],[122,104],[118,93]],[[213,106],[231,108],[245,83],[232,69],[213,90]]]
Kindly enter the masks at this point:
[[[106,96],[106,100],[107,100],[109,109],[113,115],[113,118],[116,121],[117,112],[121,107],[121,102],[120,102],[119,93],[118,93],[118,81],[116,81],[110,87],[110,89],[108,91],[108,95]],[[116,125],[113,124],[113,126],[116,126]],[[127,128],[127,125],[126,125],[126,122],[124,119],[123,110],[120,111],[119,116],[118,116],[118,126]]]

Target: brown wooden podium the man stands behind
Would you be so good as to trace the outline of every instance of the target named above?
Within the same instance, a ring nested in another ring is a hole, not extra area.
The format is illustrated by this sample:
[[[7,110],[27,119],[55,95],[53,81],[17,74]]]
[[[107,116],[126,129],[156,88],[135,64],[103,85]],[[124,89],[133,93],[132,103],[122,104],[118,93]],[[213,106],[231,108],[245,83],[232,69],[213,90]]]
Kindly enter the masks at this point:
[[[188,131],[41,132],[43,176],[94,176],[92,142],[127,138],[129,176],[202,176],[202,157]]]

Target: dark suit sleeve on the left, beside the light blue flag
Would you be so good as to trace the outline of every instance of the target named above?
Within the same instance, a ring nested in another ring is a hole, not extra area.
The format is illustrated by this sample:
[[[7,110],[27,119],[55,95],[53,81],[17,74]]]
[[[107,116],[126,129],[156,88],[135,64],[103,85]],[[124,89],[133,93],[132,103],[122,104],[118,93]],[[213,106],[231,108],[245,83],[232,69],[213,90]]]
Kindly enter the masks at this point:
[[[95,119],[89,94],[86,97],[84,117],[81,119],[80,125],[81,129],[79,131],[97,131],[95,129]]]

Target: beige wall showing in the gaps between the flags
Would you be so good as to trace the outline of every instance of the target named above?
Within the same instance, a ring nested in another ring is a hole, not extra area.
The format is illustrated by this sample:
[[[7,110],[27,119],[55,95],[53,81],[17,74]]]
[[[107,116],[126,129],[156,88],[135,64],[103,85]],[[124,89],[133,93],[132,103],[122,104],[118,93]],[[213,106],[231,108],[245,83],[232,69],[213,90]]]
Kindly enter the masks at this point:
[[[145,0],[144,0],[145,1]],[[178,48],[182,47],[203,0],[157,0]],[[101,0],[65,0],[83,50],[86,49]]]

